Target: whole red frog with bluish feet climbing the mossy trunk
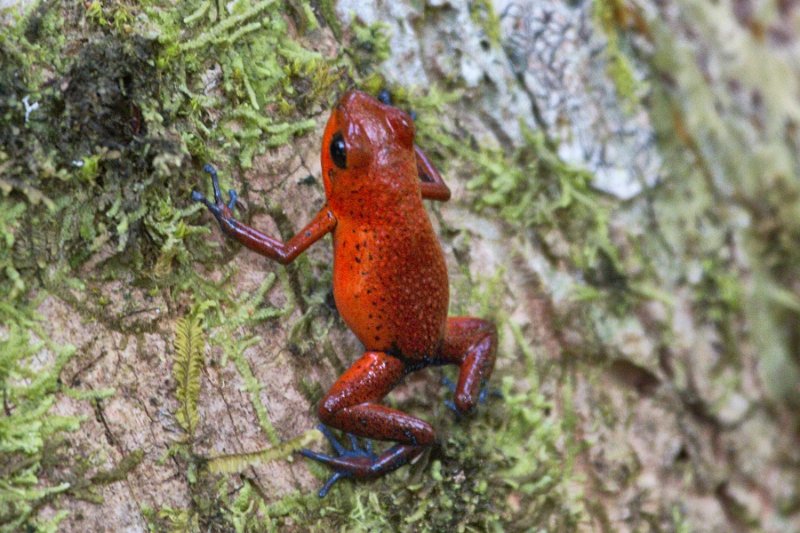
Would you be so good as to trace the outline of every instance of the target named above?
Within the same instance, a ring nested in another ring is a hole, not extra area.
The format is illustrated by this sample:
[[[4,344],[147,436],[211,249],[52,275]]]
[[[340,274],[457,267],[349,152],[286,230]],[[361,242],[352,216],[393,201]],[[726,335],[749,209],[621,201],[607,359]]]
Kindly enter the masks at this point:
[[[303,450],[334,470],[320,497],[340,478],[369,479],[419,457],[435,441],[433,428],[415,416],[381,404],[410,372],[459,365],[455,401],[459,414],[479,400],[495,361],[494,324],[448,317],[444,254],[422,203],[445,202],[450,189],[414,144],[414,122],[360,91],[346,92],[322,137],[322,176],[327,203],[289,242],[283,243],[233,217],[236,194],[226,205],[210,166],[214,203],[199,192],[222,230],[251,250],[281,264],[333,233],[333,295],[364,354],[333,384],[319,406],[321,429],[337,455]],[[326,428],[350,434],[347,450]],[[353,437],[393,441],[381,454]]]

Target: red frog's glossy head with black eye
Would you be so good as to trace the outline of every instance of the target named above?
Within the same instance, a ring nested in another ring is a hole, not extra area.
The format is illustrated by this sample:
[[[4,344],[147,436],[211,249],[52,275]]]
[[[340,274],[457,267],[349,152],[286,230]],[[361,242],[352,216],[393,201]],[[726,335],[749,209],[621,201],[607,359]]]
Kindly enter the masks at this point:
[[[322,137],[322,177],[329,201],[414,183],[414,121],[361,91],[347,91]]]

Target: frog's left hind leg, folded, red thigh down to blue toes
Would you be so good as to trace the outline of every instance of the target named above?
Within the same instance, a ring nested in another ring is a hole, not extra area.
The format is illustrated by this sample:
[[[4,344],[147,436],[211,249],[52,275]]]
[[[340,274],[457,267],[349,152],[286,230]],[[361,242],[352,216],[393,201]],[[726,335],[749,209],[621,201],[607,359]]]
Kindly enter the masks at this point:
[[[338,479],[369,479],[396,470],[430,446],[435,434],[427,422],[379,404],[406,375],[405,364],[382,352],[366,352],[334,383],[319,408],[320,420],[331,427],[368,439],[395,441],[381,455],[355,445],[346,450],[331,440],[338,456],[303,450],[308,458],[325,463],[335,473],[320,491],[320,497]],[[330,439],[332,435],[327,433]]]

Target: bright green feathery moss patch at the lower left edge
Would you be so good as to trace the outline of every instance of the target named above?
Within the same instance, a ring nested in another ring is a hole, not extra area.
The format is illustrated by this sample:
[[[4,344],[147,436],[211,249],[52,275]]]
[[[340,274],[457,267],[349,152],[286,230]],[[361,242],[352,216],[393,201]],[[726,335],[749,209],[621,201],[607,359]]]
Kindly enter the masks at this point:
[[[135,451],[112,469],[89,477],[92,460],[76,461],[70,455],[64,434],[77,431],[83,420],[52,414],[55,402],[62,394],[97,402],[114,391],[76,390],[60,383],[61,370],[75,348],[49,338],[41,317],[31,310],[35,304],[19,299],[0,304],[0,388],[5,409],[0,418],[2,531],[24,527],[55,531],[66,513],[41,521],[37,515],[43,505],[64,496],[102,501],[94,488],[124,479],[143,458],[141,450]]]

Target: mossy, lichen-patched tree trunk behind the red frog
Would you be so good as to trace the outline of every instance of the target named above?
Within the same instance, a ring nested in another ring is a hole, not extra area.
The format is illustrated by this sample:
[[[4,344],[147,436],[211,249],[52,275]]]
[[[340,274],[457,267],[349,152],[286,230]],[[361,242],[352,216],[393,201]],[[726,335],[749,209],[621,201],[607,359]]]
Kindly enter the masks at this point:
[[[0,527],[800,529],[796,3],[13,9]],[[329,246],[270,263],[189,194],[213,162],[287,239],[353,85],[414,110],[454,192],[451,310],[498,324],[503,399],[455,420],[413,376],[390,401],[440,445],[320,501],[293,453],[360,350]]]

